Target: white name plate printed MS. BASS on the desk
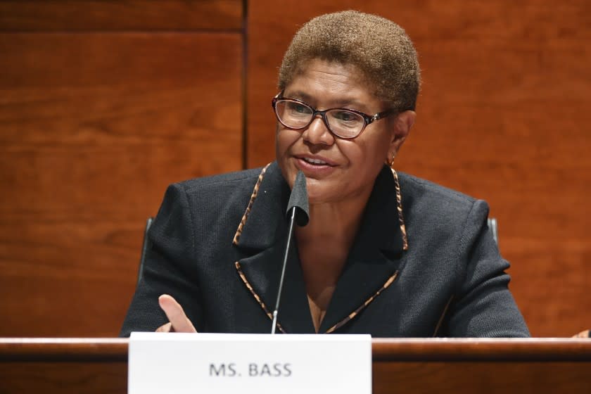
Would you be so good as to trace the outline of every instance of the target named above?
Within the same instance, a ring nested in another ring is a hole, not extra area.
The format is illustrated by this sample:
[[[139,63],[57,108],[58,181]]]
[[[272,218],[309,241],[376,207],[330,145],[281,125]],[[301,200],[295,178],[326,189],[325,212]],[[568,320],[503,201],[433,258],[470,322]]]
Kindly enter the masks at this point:
[[[128,394],[371,393],[371,336],[132,333]]]

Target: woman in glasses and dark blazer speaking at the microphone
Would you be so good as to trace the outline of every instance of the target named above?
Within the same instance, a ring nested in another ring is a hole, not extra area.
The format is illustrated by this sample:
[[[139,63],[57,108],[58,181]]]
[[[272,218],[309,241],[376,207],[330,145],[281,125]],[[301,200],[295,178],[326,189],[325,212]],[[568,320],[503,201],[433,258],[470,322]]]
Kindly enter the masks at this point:
[[[528,336],[486,203],[388,167],[419,82],[414,46],[389,20],[345,11],[304,25],[273,99],[277,162],[170,186],[122,335],[269,332],[302,170],[310,222],[295,231],[279,331]]]

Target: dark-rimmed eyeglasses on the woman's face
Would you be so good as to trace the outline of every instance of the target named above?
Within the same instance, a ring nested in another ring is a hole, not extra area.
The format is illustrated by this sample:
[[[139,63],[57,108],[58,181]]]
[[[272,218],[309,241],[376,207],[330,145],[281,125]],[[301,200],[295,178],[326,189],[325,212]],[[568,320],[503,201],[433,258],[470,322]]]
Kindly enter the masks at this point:
[[[317,110],[307,103],[295,98],[283,98],[280,92],[274,96],[271,105],[277,120],[288,129],[300,130],[310,126],[317,115],[322,116],[324,125],[330,132],[343,139],[354,139],[360,136],[367,125],[376,120],[392,115],[396,111],[385,110],[376,115],[367,115],[358,110],[347,108],[329,108]]]

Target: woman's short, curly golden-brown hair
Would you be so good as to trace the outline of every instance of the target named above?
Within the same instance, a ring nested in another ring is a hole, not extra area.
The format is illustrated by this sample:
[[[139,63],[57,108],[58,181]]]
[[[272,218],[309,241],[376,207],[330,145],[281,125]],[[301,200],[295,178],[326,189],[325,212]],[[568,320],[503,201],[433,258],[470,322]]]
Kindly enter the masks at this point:
[[[320,15],[303,25],[279,68],[284,90],[308,61],[355,65],[373,85],[376,97],[397,110],[414,110],[421,71],[417,51],[396,23],[358,11]]]

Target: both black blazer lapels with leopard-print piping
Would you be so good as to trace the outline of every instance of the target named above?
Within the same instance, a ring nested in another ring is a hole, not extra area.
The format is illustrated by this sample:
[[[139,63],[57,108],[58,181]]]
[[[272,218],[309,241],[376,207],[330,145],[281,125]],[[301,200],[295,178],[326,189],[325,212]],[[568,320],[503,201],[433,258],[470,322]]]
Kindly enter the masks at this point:
[[[236,268],[269,319],[281,274],[290,192],[276,162],[263,168],[234,236],[234,245],[247,255],[236,262]],[[397,277],[407,249],[400,201],[398,175],[383,167],[319,332],[332,332],[349,322]],[[281,312],[282,331],[314,332],[297,248],[288,260]]]

